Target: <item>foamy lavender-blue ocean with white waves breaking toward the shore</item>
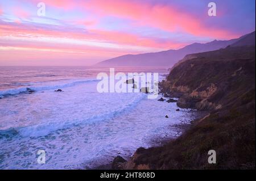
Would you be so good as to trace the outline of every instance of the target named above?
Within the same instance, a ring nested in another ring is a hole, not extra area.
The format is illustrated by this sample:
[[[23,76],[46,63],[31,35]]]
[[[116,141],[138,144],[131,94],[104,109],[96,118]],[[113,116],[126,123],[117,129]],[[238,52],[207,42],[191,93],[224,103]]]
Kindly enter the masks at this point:
[[[168,74],[167,68],[119,71]],[[142,92],[99,93],[100,72],[109,69],[0,67],[0,169],[91,169],[175,138],[177,125],[195,119],[195,111],[176,111],[176,103]],[[46,163],[38,163],[38,150],[45,150]]]

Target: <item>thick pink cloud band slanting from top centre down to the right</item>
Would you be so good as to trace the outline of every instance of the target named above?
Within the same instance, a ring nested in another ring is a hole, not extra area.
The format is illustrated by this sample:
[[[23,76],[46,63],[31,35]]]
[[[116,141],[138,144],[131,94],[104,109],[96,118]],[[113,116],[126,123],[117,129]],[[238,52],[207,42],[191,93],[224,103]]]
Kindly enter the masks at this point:
[[[230,39],[239,36],[226,30],[209,29],[189,12],[170,6],[150,6],[144,2],[133,1],[93,0],[84,2],[82,7],[97,12],[101,16],[127,18],[133,20],[138,26],[150,26],[164,31],[185,32],[214,39]]]

